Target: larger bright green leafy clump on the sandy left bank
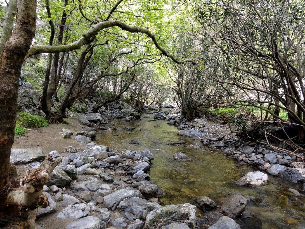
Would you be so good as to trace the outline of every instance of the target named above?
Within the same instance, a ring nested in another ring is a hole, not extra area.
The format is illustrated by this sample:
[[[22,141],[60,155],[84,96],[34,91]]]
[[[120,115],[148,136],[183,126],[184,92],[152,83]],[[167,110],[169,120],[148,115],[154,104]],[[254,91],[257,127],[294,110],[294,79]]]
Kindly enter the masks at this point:
[[[20,112],[17,115],[16,119],[17,125],[23,127],[47,127],[48,123],[45,120],[45,117],[41,115],[31,115],[27,112]]]

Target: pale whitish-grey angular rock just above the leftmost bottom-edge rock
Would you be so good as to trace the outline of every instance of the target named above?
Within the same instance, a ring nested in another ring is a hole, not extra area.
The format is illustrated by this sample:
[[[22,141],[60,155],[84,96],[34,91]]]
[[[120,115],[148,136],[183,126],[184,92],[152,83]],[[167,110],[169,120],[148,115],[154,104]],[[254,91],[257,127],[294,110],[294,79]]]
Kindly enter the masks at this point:
[[[88,216],[90,208],[86,204],[68,205],[58,215],[57,219],[78,219],[80,217]]]

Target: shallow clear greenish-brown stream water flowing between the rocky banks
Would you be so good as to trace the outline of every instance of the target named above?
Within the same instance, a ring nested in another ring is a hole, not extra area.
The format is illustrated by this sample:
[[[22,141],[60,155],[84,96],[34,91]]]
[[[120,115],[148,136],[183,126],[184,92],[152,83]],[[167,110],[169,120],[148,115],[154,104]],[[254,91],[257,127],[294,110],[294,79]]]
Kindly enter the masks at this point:
[[[254,217],[236,219],[242,228],[305,228],[304,196],[297,199],[288,191],[292,186],[300,191],[299,184],[284,184],[282,180],[269,176],[269,184],[266,186],[235,185],[235,180],[253,171],[254,168],[241,166],[219,153],[166,145],[171,140],[174,142],[185,140],[187,144],[195,144],[196,141],[178,136],[177,128],[167,125],[166,121],[148,122],[153,116],[145,116],[149,118],[135,122],[113,120],[112,123],[117,130],[100,131],[96,139],[99,144],[121,152],[127,149],[149,149],[154,155],[150,178],[165,192],[160,197],[161,204],[185,202],[194,204],[193,199],[197,196],[208,196],[219,204],[222,197],[240,192],[255,199],[248,201],[246,207]],[[155,128],[156,125],[160,128]],[[127,131],[122,129],[124,126],[137,129]],[[115,134],[118,136],[114,136]],[[129,144],[133,139],[140,144]],[[173,154],[177,152],[188,155],[191,161],[174,160]],[[204,218],[204,214],[200,211],[198,216]]]

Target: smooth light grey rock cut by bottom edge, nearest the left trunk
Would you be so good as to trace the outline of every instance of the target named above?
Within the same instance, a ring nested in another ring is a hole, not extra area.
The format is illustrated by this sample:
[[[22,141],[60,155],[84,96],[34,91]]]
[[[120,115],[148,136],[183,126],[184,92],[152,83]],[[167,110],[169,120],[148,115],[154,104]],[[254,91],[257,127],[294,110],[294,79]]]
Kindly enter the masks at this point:
[[[106,228],[106,223],[98,217],[86,216],[68,224],[66,229],[101,229]]]

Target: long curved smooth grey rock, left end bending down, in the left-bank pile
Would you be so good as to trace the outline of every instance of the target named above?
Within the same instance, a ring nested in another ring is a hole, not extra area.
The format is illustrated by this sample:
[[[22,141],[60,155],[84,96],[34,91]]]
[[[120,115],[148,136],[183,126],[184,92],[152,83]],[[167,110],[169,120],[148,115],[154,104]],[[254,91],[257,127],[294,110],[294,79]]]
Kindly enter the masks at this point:
[[[125,198],[139,197],[142,198],[141,192],[131,189],[120,189],[109,195],[104,196],[104,203],[107,209],[111,209],[117,202],[124,200]]]

